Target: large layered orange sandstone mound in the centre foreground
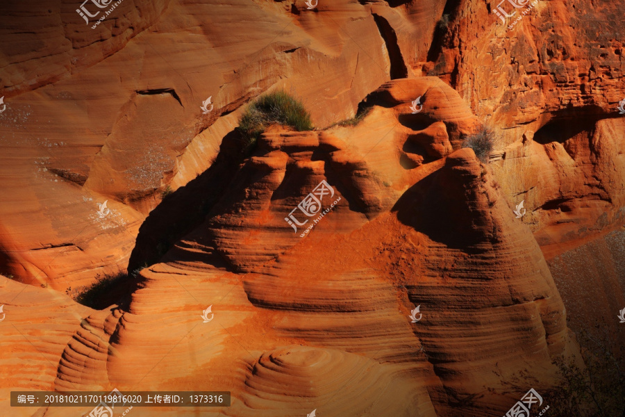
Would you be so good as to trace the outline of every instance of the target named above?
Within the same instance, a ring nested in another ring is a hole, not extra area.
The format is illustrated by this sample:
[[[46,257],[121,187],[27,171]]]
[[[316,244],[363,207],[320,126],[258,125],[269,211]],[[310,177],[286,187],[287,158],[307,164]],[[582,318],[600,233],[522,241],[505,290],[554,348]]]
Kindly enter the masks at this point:
[[[415,95],[428,100],[413,115]],[[392,82],[367,102],[353,127],[265,133],[131,301],[76,329],[53,386],[211,386],[233,392],[232,416],[494,416],[518,396],[506,384],[517,373],[550,386],[551,360],[576,345],[530,229],[470,149],[424,163],[406,148],[466,133],[474,117],[436,79]],[[465,116],[445,124],[449,113]],[[323,208],[337,203],[300,237],[285,215],[320,181],[334,192]]]

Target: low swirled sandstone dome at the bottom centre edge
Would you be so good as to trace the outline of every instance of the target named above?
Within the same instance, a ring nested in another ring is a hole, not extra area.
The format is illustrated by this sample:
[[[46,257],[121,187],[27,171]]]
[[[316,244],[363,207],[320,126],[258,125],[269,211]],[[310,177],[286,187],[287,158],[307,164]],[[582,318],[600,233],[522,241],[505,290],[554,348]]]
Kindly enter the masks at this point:
[[[337,350],[289,346],[267,352],[245,385],[242,406],[226,415],[241,415],[244,407],[256,416],[303,416],[313,409],[324,416],[434,415],[432,404],[419,401],[408,380],[393,377],[375,361]],[[291,387],[290,397],[283,394],[285,386]],[[269,410],[267,402],[284,404]]]

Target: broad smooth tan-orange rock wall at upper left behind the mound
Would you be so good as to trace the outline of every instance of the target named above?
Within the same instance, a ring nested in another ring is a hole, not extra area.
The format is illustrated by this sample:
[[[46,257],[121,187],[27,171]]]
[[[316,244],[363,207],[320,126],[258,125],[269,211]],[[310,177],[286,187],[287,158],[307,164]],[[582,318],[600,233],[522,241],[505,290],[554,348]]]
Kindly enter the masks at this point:
[[[0,6],[1,272],[22,281],[67,288],[124,268],[161,193],[206,170],[238,109],[268,88],[292,90],[326,126],[390,79],[369,6],[347,0],[317,10],[126,0],[95,29],[78,6]],[[208,97],[214,109],[203,115]],[[95,203],[107,199],[117,219],[102,226]],[[103,228],[115,237],[102,241]]]

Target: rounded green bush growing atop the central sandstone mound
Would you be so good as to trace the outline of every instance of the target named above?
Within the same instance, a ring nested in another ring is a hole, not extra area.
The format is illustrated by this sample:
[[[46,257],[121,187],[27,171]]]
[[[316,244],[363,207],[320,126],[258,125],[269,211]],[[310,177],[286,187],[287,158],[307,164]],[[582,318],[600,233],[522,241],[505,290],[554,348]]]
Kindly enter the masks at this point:
[[[283,90],[258,97],[244,111],[238,129],[246,142],[246,147],[253,147],[271,124],[291,126],[297,131],[313,129],[310,113],[306,111],[301,101]]]

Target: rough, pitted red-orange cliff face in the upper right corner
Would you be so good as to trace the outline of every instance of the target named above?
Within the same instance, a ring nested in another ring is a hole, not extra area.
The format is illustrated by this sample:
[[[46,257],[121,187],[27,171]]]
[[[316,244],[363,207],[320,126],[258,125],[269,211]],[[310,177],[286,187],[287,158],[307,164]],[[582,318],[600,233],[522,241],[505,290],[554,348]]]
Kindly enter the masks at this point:
[[[513,28],[499,1],[448,1],[449,24],[415,72],[440,76],[476,115],[505,129],[504,144],[553,120],[615,117],[625,98],[622,3],[537,1]],[[522,3],[519,1],[518,3]],[[507,13],[514,8],[502,5]]]

